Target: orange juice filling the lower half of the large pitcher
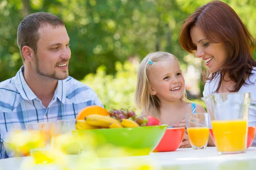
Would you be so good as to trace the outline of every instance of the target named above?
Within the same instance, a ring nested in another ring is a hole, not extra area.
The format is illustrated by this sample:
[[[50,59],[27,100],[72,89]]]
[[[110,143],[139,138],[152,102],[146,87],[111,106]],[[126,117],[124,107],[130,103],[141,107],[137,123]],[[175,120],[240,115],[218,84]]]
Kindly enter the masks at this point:
[[[218,152],[243,153],[247,145],[247,120],[213,120],[212,131]]]

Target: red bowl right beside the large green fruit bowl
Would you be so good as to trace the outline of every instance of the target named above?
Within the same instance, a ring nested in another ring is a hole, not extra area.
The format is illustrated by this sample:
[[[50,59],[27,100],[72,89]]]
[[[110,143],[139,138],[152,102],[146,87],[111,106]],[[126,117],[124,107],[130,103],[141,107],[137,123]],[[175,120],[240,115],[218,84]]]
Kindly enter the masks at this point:
[[[170,152],[177,150],[183,140],[184,132],[184,127],[168,128],[153,152]]]

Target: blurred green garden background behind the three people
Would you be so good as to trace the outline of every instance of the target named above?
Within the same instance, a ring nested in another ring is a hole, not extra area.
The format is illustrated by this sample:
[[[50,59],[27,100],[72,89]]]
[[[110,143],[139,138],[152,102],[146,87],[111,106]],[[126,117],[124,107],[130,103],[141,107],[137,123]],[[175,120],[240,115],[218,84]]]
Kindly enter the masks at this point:
[[[70,76],[92,87],[107,109],[134,108],[140,61],[153,51],[175,55],[190,97],[199,98],[205,64],[178,43],[182,21],[209,0],[0,0],[0,82],[15,76],[22,59],[17,27],[34,12],[66,24],[72,52]],[[256,36],[256,1],[223,0]],[[255,57],[256,55],[254,55]],[[200,102],[201,101],[196,101]]]

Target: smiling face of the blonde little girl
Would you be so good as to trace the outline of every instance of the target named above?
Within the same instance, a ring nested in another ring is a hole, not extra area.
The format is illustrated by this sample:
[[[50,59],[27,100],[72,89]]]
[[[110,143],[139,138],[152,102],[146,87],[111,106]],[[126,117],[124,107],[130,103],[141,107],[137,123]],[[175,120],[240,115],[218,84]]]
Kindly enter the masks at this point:
[[[175,58],[153,62],[148,69],[152,95],[156,95],[161,103],[180,100],[185,90],[185,80]]]

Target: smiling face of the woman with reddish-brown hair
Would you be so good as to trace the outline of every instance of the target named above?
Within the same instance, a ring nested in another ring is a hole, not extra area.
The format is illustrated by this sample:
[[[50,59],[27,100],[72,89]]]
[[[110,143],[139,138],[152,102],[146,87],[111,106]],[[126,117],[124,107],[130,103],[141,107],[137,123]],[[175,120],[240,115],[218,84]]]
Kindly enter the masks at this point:
[[[205,61],[209,72],[214,73],[220,70],[227,59],[227,48],[223,42],[211,43],[204,36],[198,26],[193,26],[190,30],[192,43],[197,46],[196,57]]]

